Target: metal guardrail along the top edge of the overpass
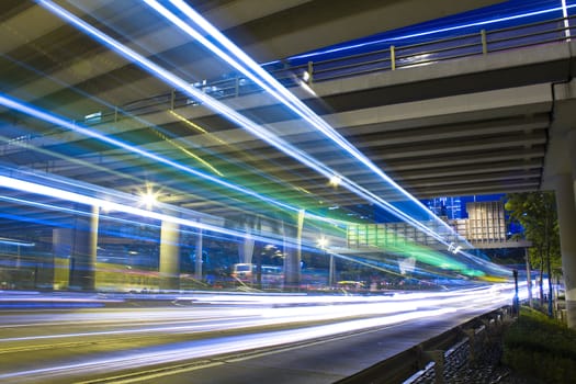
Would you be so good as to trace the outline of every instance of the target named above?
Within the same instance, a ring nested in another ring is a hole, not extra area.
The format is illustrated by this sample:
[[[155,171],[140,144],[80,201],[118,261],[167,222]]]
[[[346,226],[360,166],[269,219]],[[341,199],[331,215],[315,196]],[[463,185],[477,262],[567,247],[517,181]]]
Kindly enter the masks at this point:
[[[431,65],[462,57],[567,42],[576,29],[576,26],[571,25],[575,18],[551,19],[492,31],[482,30],[479,33],[405,46],[391,45],[385,49],[308,61],[303,65],[291,65],[290,60],[285,59],[280,60],[283,63],[282,68],[270,69],[269,71],[283,86],[290,88],[301,86],[302,82],[312,84],[406,67]],[[216,99],[237,98],[261,92],[257,84],[238,74],[228,75],[225,79],[194,83],[194,87]],[[122,118],[122,115],[142,115],[197,104],[199,102],[187,94],[173,90],[133,101],[113,111],[102,112],[98,122],[92,123],[114,122]]]

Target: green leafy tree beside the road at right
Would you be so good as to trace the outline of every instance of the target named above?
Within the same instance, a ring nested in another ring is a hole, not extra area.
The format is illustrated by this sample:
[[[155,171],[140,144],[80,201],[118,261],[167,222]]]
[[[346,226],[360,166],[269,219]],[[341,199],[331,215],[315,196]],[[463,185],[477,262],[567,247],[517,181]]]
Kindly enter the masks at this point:
[[[510,221],[523,228],[524,238],[532,242],[529,259],[540,270],[540,301],[543,304],[542,286],[544,269],[549,275],[549,315],[552,316],[552,276],[562,264],[560,252],[558,222],[554,192],[523,192],[506,195],[506,211]]]

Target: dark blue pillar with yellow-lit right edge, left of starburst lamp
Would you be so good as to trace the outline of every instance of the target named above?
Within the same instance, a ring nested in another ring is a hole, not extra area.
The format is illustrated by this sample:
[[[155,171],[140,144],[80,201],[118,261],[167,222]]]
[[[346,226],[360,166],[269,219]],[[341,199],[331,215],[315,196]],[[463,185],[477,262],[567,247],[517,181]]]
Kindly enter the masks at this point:
[[[95,290],[99,219],[100,207],[93,206],[90,216],[79,216],[75,221],[71,230],[69,274],[69,287],[72,290]]]

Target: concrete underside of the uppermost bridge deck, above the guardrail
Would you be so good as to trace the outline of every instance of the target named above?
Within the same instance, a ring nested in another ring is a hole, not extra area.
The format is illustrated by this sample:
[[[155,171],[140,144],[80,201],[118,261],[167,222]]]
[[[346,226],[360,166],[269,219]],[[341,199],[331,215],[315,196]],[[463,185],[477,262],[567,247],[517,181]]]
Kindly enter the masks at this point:
[[[498,2],[438,0],[430,7],[426,0],[242,0],[204,15],[266,63]]]

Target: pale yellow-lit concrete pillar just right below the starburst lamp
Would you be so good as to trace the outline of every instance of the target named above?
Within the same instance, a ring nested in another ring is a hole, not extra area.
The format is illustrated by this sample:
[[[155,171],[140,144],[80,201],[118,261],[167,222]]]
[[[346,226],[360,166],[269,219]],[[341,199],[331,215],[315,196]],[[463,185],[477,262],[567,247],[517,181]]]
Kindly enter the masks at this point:
[[[160,290],[180,289],[180,231],[176,223],[162,222],[160,229]]]

